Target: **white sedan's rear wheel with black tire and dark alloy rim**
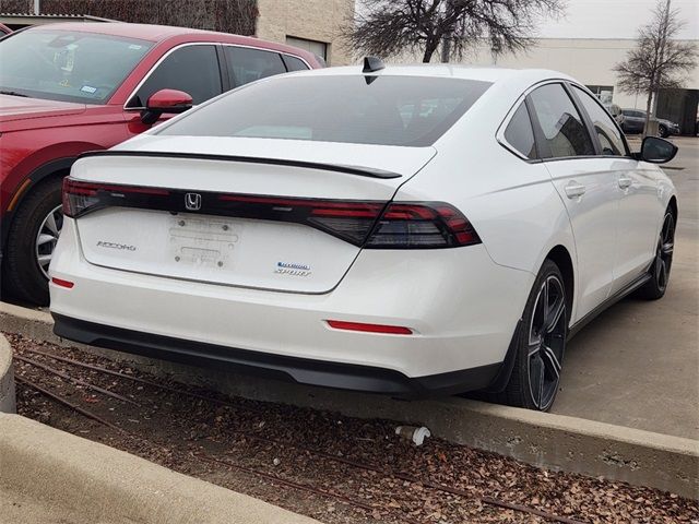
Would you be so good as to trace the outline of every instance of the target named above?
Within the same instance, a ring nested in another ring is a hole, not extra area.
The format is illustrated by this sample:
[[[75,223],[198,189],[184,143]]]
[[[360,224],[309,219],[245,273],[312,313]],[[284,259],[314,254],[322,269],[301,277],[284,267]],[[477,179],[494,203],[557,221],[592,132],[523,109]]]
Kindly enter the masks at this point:
[[[501,402],[540,412],[550,409],[560,382],[568,314],[562,274],[553,261],[546,260],[524,307],[514,367],[500,394]]]

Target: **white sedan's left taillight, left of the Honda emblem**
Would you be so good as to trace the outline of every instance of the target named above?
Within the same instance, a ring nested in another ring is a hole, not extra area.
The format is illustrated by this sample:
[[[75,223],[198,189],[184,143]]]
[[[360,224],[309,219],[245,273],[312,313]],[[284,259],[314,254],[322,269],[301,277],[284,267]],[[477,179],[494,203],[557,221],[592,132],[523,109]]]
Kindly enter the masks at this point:
[[[66,177],[63,214],[78,218],[85,213],[110,206],[157,207],[158,201],[164,204],[169,195],[170,191],[167,189],[80,182]]]

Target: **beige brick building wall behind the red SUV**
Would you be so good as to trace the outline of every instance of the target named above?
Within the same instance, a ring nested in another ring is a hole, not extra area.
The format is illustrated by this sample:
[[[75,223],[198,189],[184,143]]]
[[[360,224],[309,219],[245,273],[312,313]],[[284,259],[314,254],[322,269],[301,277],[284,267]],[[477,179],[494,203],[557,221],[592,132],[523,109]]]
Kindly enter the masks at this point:
[[[354,16],[354,0],[258,0],[256,35],[286,43],[287,36],[328,44],[328,66],[353,63],[340,33]]]

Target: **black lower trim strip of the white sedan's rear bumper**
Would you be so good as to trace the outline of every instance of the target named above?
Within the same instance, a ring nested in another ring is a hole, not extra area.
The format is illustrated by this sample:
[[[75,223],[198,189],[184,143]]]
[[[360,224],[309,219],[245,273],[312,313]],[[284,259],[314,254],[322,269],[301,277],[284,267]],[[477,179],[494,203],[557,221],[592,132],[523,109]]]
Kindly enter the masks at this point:
[[[54,332],[71,341],[145,357],[246,374],[342,390],[391,394],[401,397],[450,395],[488,386],[501,365],[408,378],[398,371],[369,366],[284,357],[214,344],[153,335],[85,322],[54,313]]]

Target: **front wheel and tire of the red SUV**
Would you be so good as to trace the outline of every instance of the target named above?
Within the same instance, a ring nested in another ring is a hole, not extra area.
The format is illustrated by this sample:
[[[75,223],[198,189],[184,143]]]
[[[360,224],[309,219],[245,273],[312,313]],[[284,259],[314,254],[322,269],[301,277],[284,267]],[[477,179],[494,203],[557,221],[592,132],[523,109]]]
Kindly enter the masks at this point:
[[[10,226],[3,255],[3,288],[36,306],[49,302],[46,271],[62,227],[61,182],[60,177],[40,182],[24,199]]]

